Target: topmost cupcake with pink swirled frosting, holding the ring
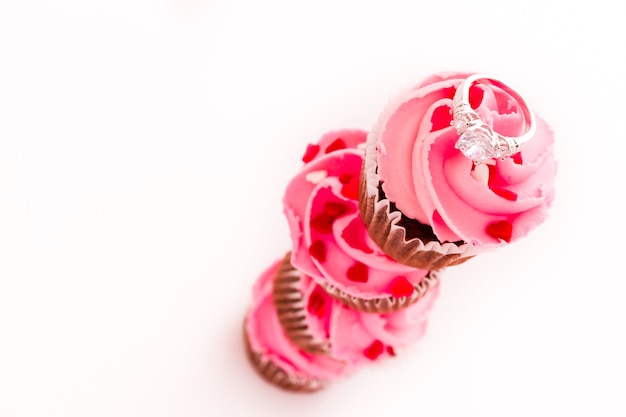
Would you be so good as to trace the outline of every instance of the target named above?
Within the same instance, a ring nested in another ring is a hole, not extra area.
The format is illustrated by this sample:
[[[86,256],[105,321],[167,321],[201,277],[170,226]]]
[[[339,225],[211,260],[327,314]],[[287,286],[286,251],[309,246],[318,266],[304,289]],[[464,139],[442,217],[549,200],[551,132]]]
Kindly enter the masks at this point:
[[[554,135],[540,117],[532,140],[504,159],[475,164],[455,147],[453,97],[467,74],[431,76],[393,100],[368,135],[359,208],[372,240],[420,269],[456,265],[526,236],[554,199]],[[472,109],[494,131],[519,136],[519,102],[472,85]]]

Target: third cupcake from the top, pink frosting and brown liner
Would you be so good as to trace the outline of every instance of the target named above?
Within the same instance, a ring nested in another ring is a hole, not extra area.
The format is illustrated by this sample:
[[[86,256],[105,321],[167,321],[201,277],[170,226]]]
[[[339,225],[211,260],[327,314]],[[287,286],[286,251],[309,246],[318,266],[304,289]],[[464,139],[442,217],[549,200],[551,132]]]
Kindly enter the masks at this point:
[[[416,343],[426,331],[438,288],[396,312],[361,312],[329,296],[294,269],[287,255],[274,279],[274,305],[287,336],[302,350],[359,367]]]

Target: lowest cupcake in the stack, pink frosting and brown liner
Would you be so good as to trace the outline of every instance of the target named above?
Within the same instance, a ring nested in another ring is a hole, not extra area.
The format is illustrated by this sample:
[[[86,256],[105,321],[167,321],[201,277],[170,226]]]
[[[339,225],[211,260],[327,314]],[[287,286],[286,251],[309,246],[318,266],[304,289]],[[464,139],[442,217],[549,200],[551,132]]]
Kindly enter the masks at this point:
[[[270,383],[297,392],[314,392],[354,371],[348,362],[303,351],[286,335],[272,296],[280,261],[259,277],[252,306],[244,321],[244,341],[250,362]]]

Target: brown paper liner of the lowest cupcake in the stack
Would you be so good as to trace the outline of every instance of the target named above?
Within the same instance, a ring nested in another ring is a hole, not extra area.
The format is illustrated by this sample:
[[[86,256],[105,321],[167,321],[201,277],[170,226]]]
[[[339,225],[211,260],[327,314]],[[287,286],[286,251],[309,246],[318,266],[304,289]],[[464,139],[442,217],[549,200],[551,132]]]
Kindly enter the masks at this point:
[[[263,379],[279,388],[292,392],[316,392],[328,385],[328,382],[320,379],[310,379],[302,376],[290,375],[280,366],[264,357],[263,354],[253,351],[245,328],[246,326],[244,324],[243,335],[246,354],[254,369],[256,369],[257,373]]]

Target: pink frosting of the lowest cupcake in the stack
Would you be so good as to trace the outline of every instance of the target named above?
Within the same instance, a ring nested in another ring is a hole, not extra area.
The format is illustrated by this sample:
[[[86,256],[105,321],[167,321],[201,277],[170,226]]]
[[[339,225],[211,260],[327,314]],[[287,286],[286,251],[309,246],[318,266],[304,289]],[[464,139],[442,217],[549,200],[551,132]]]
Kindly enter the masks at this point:
[[[280,261],[270,266],[255,283],[246,331],[253,352],[263,355],[288,375],[332,381],[354,370],[346,361],[306,353],[285,335],[272,301],[272,285]]]

